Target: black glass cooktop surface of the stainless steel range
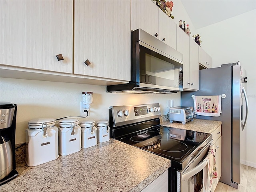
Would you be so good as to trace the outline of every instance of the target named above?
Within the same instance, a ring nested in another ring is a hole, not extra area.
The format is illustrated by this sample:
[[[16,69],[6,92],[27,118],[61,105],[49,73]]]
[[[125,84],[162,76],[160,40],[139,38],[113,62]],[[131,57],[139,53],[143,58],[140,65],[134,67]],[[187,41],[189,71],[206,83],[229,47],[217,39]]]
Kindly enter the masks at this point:
[[[202,132],[156,126],[119,140],[168,158],[172,167],[181,169],[182,162],[210,136]]]

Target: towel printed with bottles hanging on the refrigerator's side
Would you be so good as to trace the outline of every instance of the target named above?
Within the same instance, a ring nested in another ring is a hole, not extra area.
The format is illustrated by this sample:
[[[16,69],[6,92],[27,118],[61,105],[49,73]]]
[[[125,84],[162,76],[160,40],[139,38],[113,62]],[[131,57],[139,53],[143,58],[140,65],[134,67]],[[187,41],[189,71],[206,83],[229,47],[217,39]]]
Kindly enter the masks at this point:
[[[221,114],[221,95],[194,96],[195,114],[219,117]]]

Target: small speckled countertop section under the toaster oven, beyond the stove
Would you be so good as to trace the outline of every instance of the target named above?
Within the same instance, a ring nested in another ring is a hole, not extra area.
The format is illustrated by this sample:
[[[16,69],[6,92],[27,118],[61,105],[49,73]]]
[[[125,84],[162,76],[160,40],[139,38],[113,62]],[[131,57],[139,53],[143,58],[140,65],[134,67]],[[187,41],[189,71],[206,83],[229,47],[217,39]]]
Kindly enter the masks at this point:
[[[212,133],[216,128],[218,128],[222,124],[222,122],[204,119],[194,119],[193,121],[186,122],[185,125],[183,125],[181,122],[170,123],[169,120],[160,122],[160,124],[162,126],[168,126],[173,128],[199,131],[204,133]]]

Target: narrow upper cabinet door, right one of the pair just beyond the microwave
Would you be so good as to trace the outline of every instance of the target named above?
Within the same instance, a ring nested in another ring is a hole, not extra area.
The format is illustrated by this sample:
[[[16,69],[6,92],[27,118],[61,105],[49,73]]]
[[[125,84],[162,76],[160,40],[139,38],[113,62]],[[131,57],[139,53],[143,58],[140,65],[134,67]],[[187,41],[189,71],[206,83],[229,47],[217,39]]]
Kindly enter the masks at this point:
[[[198,44],[190,38],[189,42],[190,89],[199,89]]]

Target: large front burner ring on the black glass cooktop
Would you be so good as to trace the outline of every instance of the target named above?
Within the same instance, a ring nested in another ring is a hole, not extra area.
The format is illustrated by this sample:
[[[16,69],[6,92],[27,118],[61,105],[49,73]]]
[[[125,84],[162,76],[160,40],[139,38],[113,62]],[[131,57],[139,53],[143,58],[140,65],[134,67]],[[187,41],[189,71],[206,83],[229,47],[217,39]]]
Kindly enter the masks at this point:
[[[152,142],[152,145],[154,146],[159,142],[161,143],[161,146],[158,149],[162,151],[181,152],[181,151],[185,151],[188,148],[188,146],[185,143],[182,143],[174,139],[159,139]]]

